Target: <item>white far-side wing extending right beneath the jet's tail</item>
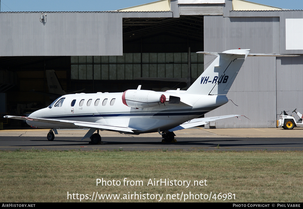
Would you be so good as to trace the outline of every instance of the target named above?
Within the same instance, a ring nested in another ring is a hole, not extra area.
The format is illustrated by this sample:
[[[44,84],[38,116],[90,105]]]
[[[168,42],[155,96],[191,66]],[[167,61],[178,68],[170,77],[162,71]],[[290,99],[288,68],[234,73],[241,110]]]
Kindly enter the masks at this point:
[[[192,120],[187,121],[185,123],[182,123],[181,125],[178,125],[175,128],[172,128],[168,131],[170,131],[170,132],[178,131],[178,130],[182,130],[182,129],[185,129],[185,128],[192,128],[192,127],[199,126],[199,125],[205,125],[205,124],[208,124],[211,121],[224,119],[224,118],[238,117],[238,116],[241,116],[241,115],[223,115],[223,116],[207,117],[207,118],[195,118],[195,119],[192,119]]]

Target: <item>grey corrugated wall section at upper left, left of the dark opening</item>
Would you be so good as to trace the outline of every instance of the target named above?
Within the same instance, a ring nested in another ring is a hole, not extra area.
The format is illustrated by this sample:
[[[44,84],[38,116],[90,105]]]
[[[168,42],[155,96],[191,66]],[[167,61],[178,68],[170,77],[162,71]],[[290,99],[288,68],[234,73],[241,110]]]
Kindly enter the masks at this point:
[[[113,12],[0,13],[0,56],[122,55]]]

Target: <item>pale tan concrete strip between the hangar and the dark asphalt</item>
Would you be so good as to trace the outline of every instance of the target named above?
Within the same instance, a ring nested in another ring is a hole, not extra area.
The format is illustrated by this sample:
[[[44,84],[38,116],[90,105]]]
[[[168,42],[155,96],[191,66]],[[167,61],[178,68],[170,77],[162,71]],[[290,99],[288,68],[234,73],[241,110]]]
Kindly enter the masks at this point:
[[[83,137],[88,129],[57,129],[55,137]],[[19,129],[0,130],[0,136],[41,136],[46,137],[49,129]],[[140,135],[120,134],[112,131],[99,132],[101,137],[161,137],[159,133],[147,133]],[[253,137],[253,138],[300,138],[303,136],[303,128],[285,130],[283,128],[187,128],[174,132],[177,137]]]

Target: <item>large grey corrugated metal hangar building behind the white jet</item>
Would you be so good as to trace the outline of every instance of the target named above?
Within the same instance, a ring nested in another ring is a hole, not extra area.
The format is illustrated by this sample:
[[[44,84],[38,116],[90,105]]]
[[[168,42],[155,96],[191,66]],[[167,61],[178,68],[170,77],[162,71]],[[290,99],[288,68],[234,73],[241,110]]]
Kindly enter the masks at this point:
[[[249,118],[222,119],[217,128],[276,127],[281,111],[303,112],[302,25],[303,10],[244,0],[160,0],[105,12],[0,12],[0,112],[22,115],[48,105],[46,70],[55,70],[66,92],[123,92],[138,85],[186,89],[214,59],[195,52],[241,48],[301,56],[248,57],[227,94],[238,106],[230,101],[205,116]]]

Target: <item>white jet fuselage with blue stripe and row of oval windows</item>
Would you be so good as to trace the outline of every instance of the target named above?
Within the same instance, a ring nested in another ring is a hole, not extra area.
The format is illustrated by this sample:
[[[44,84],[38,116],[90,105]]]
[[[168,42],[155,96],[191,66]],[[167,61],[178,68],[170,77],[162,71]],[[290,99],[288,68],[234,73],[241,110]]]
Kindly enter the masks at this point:
[[[123,104],[123,92],[68,94],[28,117],[129,127],[138,134],[169,130],[228,102],[225,95],[186,94],[184,91],[159,93],[165,95],[166,101],[148,108],[131,108]],[[180,103],[170,103],[170,96],[179,97]],[[75,128],[44,122],[27,123],[40,128]]]

